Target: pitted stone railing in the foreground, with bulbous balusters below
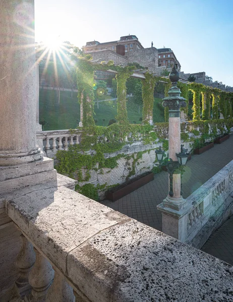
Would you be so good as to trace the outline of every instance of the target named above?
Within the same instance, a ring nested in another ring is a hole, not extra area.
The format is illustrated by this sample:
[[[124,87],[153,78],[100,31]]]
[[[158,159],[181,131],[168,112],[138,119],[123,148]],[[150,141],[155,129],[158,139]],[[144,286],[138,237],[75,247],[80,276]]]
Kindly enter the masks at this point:
[[[68,189],[64,181],[17,190],[5,197],[5,209],[22,233],[16,285],[21,294],[31,288],[24,301],[232,299],[230,265]]]

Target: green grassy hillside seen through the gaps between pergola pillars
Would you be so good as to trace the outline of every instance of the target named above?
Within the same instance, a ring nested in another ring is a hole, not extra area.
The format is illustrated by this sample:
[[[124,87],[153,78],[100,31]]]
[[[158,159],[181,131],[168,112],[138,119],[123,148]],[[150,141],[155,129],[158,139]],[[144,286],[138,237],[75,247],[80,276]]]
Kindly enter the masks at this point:
[[[105,99],[111,99],[110,96],[105,96]],[[80,121],[80,105],[77,99],[77,93],[61,91],[60,104],[57,91],[40,89],[40,121],[44,120],[44,130],[61,130],[76,128],[77,122]],[[140,107],[140,108],[139,108]],[[134,104],[131,100],[127,101],[127,110],[130,123],[141,123],[142,106]],[[116,116],[116,101],[102,101],[94,106],[94,119],[97,120],[97,125],[107,126],[109,119]],[[140,111],[140,113],[139,113]],[[161,106],[161,99],[155,99],[154,122],[164,121],[164,109]],[[103,121],[103,119],[105,121]]]

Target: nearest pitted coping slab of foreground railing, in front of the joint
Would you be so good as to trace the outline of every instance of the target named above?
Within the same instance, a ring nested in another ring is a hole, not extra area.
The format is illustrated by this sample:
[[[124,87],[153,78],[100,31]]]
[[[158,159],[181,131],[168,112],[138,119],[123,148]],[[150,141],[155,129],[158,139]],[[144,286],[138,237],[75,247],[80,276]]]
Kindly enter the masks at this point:
[[[135,220],[68,255],[68,276],[90,300],[230,301],[230,265]]]

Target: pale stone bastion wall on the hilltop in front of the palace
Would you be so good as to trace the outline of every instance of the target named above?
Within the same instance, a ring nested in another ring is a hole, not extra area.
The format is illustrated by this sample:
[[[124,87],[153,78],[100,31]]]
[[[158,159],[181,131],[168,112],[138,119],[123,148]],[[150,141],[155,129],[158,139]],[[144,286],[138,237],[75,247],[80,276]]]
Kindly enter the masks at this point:
[[[129,63],[139,63],[144,67],[148,67],[150,71],[155,72],[156,68],[158,68],[158,51],[155,47],[129,51],[125,57]]]

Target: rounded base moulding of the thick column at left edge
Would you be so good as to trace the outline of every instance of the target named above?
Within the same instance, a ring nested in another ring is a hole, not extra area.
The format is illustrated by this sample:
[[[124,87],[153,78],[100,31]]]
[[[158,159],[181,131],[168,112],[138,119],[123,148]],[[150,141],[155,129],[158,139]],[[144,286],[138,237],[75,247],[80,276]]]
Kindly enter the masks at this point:
[[[37,148],[28,152],[15,153],[15,150],[0,151],[0,166],[15,166],[39,161],[43,158],[41,149]]]

